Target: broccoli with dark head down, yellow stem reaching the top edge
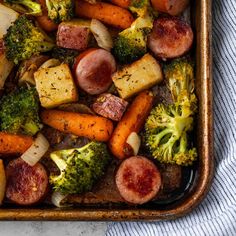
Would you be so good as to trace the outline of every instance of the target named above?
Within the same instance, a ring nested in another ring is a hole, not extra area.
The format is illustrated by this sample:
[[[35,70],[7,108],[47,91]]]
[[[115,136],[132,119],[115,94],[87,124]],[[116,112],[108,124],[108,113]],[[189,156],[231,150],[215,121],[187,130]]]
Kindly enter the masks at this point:
[[[135,1],[130,9],[138,18],[130,28],[121,31],[114,42],[113,54],[122,63],[131,63],[147,52],[147,37],[153,27],[153,16],[149,11],[149,1]]]

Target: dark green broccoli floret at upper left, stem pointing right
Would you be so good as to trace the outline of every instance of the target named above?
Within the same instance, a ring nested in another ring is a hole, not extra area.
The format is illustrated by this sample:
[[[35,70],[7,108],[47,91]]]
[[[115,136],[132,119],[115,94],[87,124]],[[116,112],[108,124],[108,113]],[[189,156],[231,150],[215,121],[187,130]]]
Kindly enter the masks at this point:
[[[25,16],[20,16],[9,27],[4,35],[4,45],[7,58],[15,64],[54,47],[54,43],[48,40],[41,29]]]

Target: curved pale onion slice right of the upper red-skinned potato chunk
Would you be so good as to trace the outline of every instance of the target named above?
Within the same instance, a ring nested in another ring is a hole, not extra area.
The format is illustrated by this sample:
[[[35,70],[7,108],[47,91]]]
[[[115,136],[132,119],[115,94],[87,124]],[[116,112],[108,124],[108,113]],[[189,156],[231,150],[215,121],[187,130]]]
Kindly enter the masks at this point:
[[[90,30],[93,33],[98,46],[110,51],[113,47],[113,41],[107,27],[99,20],[92,19]]]

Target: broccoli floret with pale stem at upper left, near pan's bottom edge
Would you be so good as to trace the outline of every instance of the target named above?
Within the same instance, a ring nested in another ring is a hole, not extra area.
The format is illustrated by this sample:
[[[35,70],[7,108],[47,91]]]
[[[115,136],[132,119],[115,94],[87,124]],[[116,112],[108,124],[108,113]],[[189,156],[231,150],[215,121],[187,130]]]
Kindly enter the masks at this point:
[[[63,194],[88,192],[105,172],[110,156],[106,144],[90,142],[81,148],[51,153],[51,159],[60,169],[59,175],[51,175],[50,183],[55,191]]]

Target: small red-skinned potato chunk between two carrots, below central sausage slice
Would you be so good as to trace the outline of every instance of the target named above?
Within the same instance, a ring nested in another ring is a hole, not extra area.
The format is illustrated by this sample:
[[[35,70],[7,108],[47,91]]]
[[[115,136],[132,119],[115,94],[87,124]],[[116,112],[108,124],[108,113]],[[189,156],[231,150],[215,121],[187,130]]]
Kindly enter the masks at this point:
[[[106,118],[119,121],[128,102],[109,93],[101,94],[93,104],[93,110]]]

